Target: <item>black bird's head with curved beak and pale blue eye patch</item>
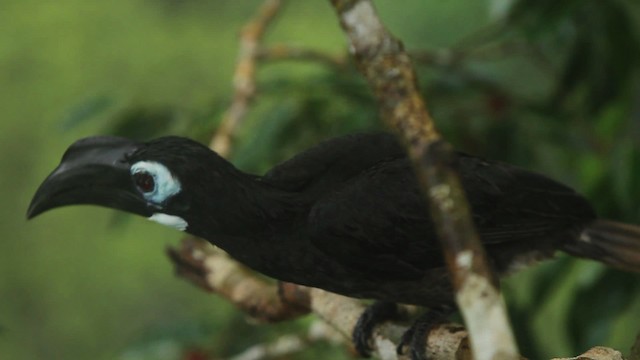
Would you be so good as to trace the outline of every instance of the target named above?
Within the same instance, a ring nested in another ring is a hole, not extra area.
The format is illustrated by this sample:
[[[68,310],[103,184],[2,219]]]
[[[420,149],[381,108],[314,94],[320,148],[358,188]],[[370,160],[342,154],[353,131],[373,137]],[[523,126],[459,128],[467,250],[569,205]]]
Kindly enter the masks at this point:
[[[40,185],[27,217],[65,205],[92,204],[193,233],[192,222],[202,222],[207,202],[215,202],[203,192],[224,194],[224,183],[233,183],[237,174],[216,153],[185,138],[147,143],[109,136],[85,138],[67,149],[60,165]],[[224,200],[224,195],[220,197]],[[198,213],[201,216],[194,219]]]

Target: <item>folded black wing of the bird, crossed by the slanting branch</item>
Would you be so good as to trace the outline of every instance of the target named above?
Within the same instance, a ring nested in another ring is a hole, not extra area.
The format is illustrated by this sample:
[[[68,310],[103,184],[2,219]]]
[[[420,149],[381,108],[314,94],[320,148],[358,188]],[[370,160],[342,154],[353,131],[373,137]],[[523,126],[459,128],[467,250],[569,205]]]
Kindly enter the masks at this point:
[[[544,176],[465,154],[458,155],[457,170],[480,238],[499,267],[527,249],[554,248],[557,234],[576,219],[595,216],[584,198]],[[399,157],[327,191],[308,222],[313,245],[345,266],[407,279],[444,265],[428,214],[408,159]]]

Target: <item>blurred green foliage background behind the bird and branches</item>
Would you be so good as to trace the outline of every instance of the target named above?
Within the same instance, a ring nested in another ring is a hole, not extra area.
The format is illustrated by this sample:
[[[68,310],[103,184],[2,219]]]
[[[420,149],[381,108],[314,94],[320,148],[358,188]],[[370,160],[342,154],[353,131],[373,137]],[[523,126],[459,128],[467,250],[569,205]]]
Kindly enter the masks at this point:
[[[0,358],[226,358],[312,319],[251,325],[173,276],[180,234],[72,207],[27,223],[39,182],[75,139],[182,134],[208,142],[228,105],[237,34],[257,0],[0,1]],[[376,1],[418,60],[458,148],[571,184],[608,218],[640,223],[637,2]],[[343,54],[327,1],[290,1],[267,44]],[[448,51],[441,51],[449,49]],[[350,65],[277,62],[232,160],[261,172],[323,138],[379,127]],[[628,352],[640,277],[560,256],[504,282],[524,355]],[[348,357],[316,344],[291,358]]]

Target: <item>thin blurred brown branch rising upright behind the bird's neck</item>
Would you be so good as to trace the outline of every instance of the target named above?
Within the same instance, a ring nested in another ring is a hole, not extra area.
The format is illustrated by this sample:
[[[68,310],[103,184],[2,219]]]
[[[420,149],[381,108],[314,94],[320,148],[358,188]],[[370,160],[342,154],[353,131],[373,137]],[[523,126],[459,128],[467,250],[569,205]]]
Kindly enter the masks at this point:
[[[223,157],[229,155],[236,128],[242,122],[256,92],[256,57],[260,41],[268,25],[281,8],[280,0],[266,0],[256,16],[247,23],[240,34],[240,53],[233,76],[234,96],[220,126],[211,140],[210,147]]]

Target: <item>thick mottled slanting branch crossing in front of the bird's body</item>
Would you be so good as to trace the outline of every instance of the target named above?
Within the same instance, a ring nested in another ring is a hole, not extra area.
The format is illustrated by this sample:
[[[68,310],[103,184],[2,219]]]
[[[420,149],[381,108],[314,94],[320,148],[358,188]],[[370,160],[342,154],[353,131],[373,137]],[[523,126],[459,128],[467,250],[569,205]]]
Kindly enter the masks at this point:
[[[427,112],[409,56],[369,0],[331,2],[357,65],[378,98],[383,119],[407,145],[430,203],[476,358],[517,358],[503,300],[453,170],[453,151]]]

